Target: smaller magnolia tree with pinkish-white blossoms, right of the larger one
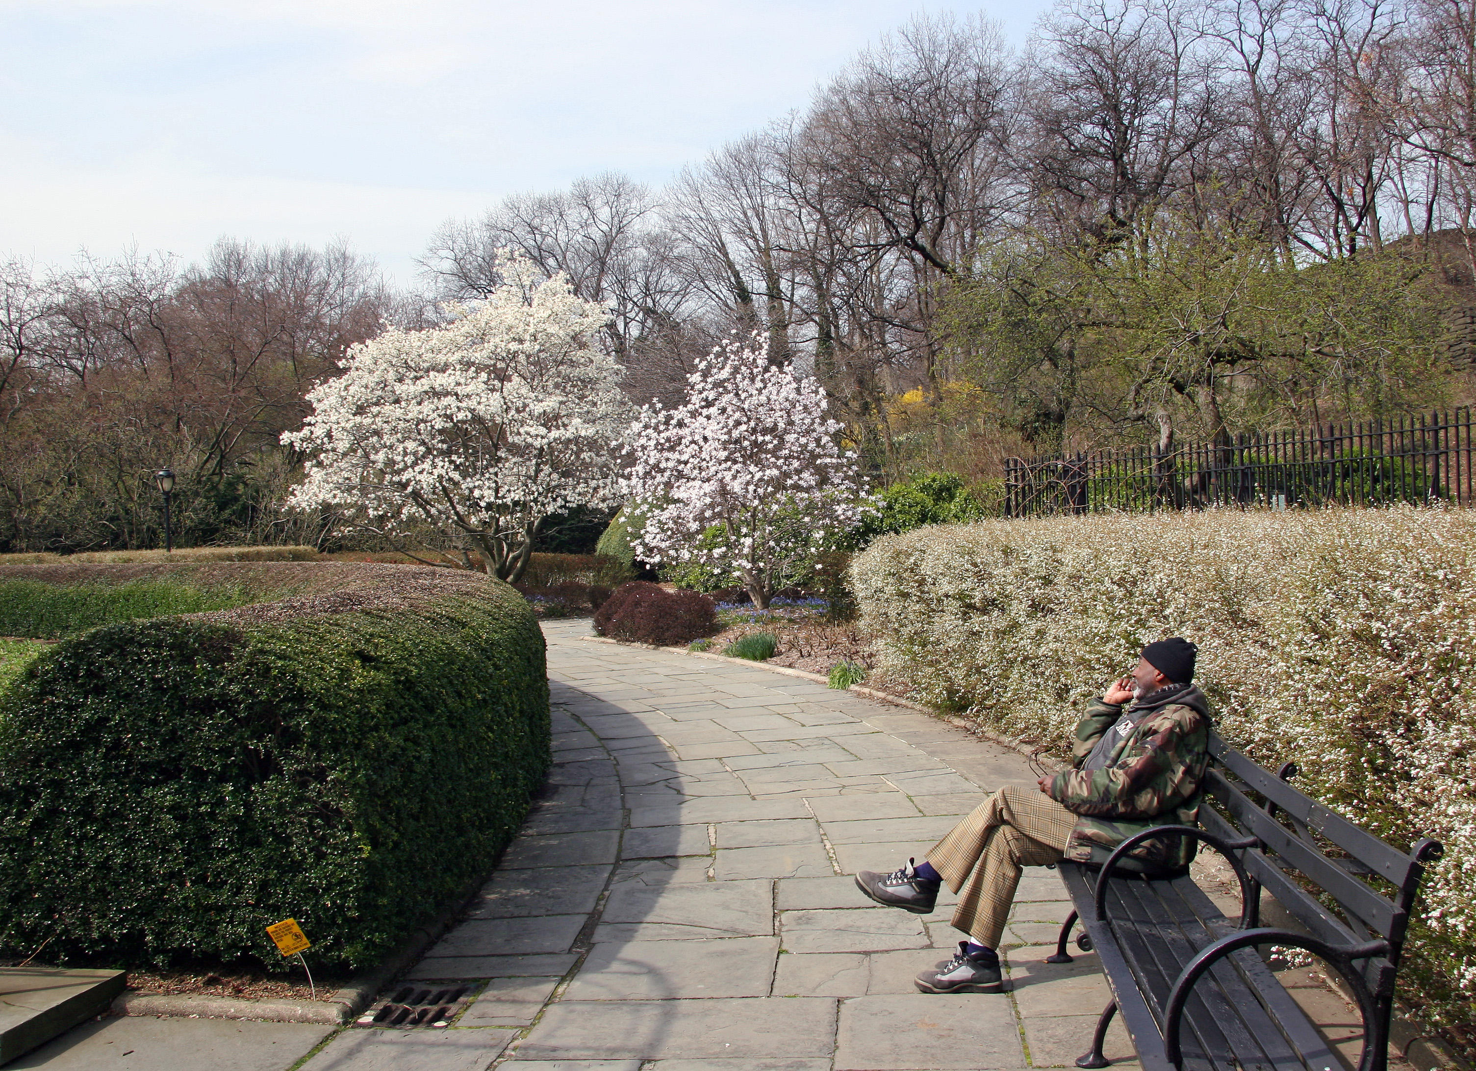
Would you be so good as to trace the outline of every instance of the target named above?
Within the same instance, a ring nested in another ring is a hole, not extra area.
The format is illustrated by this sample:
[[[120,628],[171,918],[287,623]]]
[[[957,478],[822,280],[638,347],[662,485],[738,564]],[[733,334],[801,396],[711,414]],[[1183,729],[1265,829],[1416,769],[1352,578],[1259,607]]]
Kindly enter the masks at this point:
[[[813,378],[775,368],[763,335],[729,340],[688,377],[676,409],[645,406],[626,443],[623,490],[644,517],[636,557],[742,578],[766,607],[796,566],[866,508],[855,455],[835,443]]]

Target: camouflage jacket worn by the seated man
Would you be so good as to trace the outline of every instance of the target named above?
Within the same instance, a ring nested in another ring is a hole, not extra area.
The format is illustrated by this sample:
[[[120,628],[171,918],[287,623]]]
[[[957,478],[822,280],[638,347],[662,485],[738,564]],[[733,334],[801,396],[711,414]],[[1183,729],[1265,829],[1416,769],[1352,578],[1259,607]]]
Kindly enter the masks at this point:
[[[1194,826],[1209,761],[1209,702],[1193,684],[1145,696],[1126,714],[1122,706],[1092,700],[1076,725],[1076,762],[1049,786],[1052,799],[1080,815],[1066,858],[1101,864],[1134,833],[1154,826]],[[1107,746],[1106,768],[1083,770],[1104,733],[1120,737]],[[1178,870],[1193,857],[1193,844],[1173,838],[1148,841],[1123,863],[1131,870]]]

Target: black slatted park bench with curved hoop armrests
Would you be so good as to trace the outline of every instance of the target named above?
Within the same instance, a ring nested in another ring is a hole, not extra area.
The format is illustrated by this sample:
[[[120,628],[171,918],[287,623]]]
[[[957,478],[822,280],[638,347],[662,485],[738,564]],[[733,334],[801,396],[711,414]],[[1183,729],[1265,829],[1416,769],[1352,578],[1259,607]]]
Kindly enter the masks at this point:
[[[1442,846],[1426,838],[1410,854],[1392,848],[1293,789],[1292,762],[1272,774],[1215,734],[1209,753],[1199,829],[1147,830],[1101,867],[1057,864],[1076,910],[1046,962],[1072,962],[1066,945],[1080,920],[1077,944],[1095,950],[1113,994],[1076,1065],[1107,1067],[1103,1041],[1120,1013],[1144,1071],[1337,1071],[1342,1059],[1258,951],[1281,945],[1312,953],[1342,978],[1362,1015],[1358,1071],[1384,1071],[1410,910],[1424,864]],[[1163,836],[1193,838],[1230,861],[1238,922],[1188,872],[1150,876],[1120,866]],[[1261,925],[1262,889],[1303,932]]]

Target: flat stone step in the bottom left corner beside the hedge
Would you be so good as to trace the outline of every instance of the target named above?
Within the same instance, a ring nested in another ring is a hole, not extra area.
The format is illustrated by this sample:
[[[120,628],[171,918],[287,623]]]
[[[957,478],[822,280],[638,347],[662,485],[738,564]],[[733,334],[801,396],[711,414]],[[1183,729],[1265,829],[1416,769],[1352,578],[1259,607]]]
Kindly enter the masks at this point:
[[[123,971],[0,968],[0,1064],[103,1015],[123,993]]]

